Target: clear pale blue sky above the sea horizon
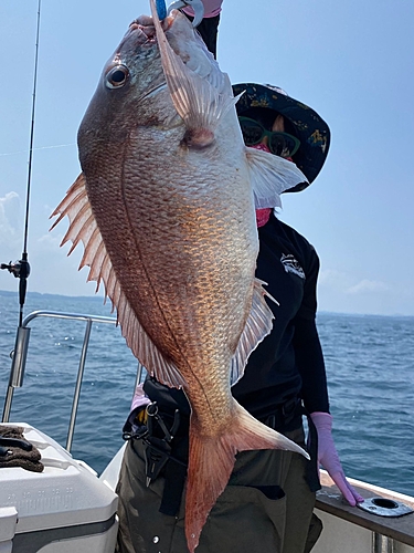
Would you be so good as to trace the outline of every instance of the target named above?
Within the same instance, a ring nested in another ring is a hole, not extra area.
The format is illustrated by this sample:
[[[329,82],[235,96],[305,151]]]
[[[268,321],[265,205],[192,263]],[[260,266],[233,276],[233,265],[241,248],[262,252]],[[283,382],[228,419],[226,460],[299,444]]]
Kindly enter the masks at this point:
[[[0,261],[20,259],[38,0],[0,4]],[[79,173],[76,132],[105,61],[147,0],[42,1],[29,290],[92,295],[81,248],[49,216]],[[272,83],[328,122],[317,180],[282,219],[316,247],[319,309],[414,315],[414,3],[224,0],[219,62],[232,82]],[[0,272],[0,290],[18,282]]]

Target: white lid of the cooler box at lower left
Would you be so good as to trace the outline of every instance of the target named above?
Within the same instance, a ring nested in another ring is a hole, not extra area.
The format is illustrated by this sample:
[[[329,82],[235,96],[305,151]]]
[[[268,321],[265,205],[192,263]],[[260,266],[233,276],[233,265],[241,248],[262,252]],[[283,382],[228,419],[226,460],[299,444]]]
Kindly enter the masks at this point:
[[[114,517],[117,495],[93,469],[73,459],[55,440],[30,425],[7,426],[23,427],[24,438],[41,452],[44,471],[0,468],[0,526],[1,513],[10,513],[2,508],[17,510],[17,534],[84,525]]]

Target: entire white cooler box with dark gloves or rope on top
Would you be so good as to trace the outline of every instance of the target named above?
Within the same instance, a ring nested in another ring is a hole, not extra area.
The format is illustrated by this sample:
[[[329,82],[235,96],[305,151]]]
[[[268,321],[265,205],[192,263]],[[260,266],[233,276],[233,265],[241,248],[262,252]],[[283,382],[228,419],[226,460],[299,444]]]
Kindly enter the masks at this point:
[[[82,461],[26,424],[43,472],[0,468],[0,553],[114,553],[117,495]]]

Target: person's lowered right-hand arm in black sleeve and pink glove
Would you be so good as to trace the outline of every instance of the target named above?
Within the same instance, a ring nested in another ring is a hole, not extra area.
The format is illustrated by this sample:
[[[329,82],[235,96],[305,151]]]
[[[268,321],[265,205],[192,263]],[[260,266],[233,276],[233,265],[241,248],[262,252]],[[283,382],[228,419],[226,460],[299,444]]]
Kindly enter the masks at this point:
[[[314,251],[306,274],[302,306],[295,324],[295,355],[302,379],[304,405],[318,432],[318,463],[328,471],[348,503],[355,505],[363,498],[347,481],[332,437],[325,361],[315,319],[318,272],[319,259]]]

